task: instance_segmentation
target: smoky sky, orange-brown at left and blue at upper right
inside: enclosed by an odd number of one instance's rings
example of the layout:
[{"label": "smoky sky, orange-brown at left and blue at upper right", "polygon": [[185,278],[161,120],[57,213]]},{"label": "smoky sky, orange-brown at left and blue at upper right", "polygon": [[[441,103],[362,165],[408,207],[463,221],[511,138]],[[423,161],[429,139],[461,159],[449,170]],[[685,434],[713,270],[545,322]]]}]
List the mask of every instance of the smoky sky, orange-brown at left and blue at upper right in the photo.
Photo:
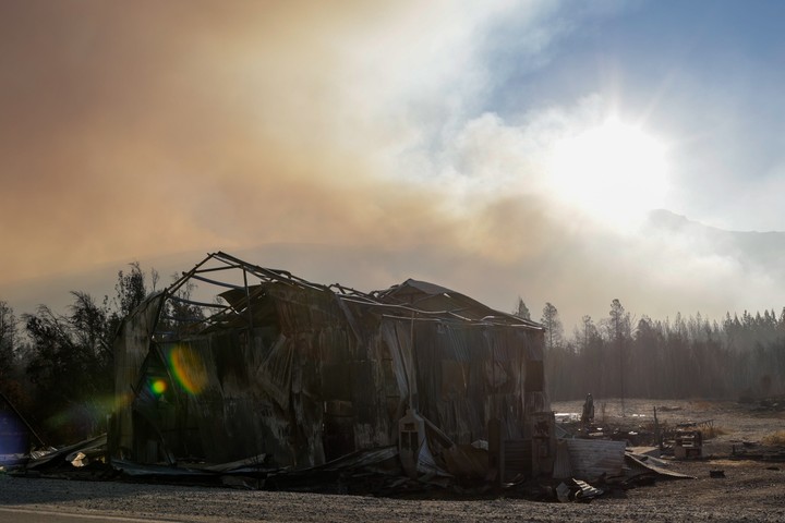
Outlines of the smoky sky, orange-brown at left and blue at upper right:
[{"label": "smoky sky, orange-brown at left and blue at upper right", "polygon": [[[567,330],[782,308],[652,223],[782,231],[785,3],[0,2],[0,300],[226,251]],[[75,287],[81,285],[81,287]]]}]

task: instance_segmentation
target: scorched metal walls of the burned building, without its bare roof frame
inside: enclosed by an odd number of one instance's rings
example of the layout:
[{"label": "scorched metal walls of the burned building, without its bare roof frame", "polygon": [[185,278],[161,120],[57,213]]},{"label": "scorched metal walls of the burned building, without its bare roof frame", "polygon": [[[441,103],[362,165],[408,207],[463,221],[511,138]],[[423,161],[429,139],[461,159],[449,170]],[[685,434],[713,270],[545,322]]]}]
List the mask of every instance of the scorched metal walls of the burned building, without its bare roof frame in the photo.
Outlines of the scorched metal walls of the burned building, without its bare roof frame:
[{"label": "scorched metal walls of the burned building, without its bare roof frame", "polygon": [[[319,289],[266,284],[237,321],[156,340],[155,300],[117,340],[114,453],[142,463],[228,462],[266,454],[307,467],[397,442],[409,405],[458,443],[487,437],[491,417],[523,437],[540,410],[542,331],[404,317]],[[243,320],[240,320],[243,318]]]}]

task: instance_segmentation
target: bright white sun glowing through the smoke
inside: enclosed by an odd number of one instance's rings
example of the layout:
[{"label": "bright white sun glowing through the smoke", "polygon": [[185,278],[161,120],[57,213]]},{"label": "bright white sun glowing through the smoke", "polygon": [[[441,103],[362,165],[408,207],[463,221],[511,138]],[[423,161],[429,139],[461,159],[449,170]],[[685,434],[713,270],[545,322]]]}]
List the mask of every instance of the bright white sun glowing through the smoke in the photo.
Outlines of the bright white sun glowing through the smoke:
[{"label": "bright white sun glowing through the smoke", "polygon": [[631,220],[663,206],[667,150],[639,125],[612,117],[553,147],[557,199],[603,221]]}]

